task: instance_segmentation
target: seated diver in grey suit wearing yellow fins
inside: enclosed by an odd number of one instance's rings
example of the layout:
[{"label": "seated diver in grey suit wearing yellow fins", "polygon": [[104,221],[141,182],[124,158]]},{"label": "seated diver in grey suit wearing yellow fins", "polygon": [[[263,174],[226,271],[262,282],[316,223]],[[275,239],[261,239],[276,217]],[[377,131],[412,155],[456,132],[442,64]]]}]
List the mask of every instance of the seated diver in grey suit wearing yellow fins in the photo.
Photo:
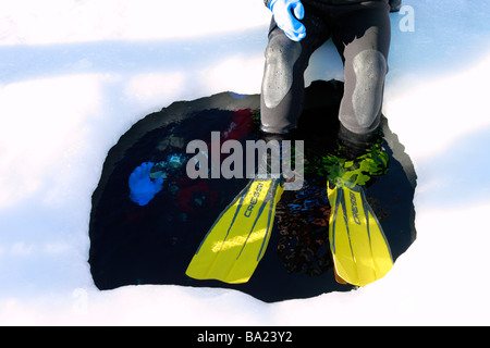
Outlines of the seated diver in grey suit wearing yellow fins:
[{"label": "seated diver in grey suit wearing yellow fins", "polygon": [[[351,157],[358,157],[380,125],[391,41],[389,14],[400,10],[401,0],[265,0],[265,4],[273,16],[261,86],[262,138],[280,144],[294,137],[303,113],[304,73],[311,54],[332,38],[345,78],[339,140],[343,148],[353,148],[347,151]],[[271,157],[281,157],[282,151],[277,146]],[[391,251],[363,188],[348,181],[363,176],[338,172],[342,175],[327,185],[335,279],[364,286],[391,270]],[[257,176],[249,182],[211,226],[187,268],[188,276],[248,282],[269,243],[287,181],[281,176]]]}]

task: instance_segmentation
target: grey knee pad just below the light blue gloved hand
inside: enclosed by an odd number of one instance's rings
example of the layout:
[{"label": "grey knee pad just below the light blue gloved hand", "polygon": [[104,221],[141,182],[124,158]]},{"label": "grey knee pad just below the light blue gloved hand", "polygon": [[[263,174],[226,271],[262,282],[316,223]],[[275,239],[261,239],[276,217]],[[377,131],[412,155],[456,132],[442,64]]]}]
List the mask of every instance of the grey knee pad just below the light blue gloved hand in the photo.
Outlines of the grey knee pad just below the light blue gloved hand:
[{"label": "grey knee pad just below the light blue gloved hand", "polygon": [[273,109],[284,99],[293,86],[294,64],[302,53],[302,45],[286,36],[274,36],[266,49],[266,69],[262,80],[262,98],[266,107]]}]

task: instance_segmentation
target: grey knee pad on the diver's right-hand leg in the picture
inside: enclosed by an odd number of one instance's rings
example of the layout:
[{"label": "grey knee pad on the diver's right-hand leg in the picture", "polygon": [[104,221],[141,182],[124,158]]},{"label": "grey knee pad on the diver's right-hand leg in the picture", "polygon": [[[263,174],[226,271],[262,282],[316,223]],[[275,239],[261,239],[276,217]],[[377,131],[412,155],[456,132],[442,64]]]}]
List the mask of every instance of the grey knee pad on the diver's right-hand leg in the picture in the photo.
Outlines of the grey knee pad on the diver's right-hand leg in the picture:
[{"label": "grey knee pad on the diver's right-hand leg in the picture", "polygon": [[[365,50],[353,60],[356,77],[352,105],[360,133],[370,132],[378,126],[381,112],[384,77],[388,63],[384,55],[377,50]],[[375,124],[376,123],[376,124]]]}]

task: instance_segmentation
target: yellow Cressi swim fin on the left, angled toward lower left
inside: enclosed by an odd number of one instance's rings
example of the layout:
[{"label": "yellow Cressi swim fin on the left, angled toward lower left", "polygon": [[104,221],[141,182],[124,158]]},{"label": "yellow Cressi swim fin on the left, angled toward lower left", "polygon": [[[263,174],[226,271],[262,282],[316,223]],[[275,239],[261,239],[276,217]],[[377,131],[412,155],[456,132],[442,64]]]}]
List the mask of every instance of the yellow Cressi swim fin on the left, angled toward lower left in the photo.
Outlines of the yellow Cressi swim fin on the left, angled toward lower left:
[{"label": "yellow Cressi swim fin on the left, angled toward lower left", "polygon": [[185,272],[196,279],[246,283],[266,252],[284,191],[280,179],[253,179],[215,222]]}]

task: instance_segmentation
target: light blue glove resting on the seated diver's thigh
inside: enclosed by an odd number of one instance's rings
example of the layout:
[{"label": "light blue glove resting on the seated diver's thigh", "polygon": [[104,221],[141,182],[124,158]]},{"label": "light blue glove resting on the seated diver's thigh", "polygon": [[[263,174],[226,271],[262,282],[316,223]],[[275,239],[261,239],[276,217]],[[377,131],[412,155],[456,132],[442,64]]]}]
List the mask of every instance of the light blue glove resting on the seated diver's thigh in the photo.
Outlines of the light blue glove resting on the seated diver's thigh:
[{"label": "light blue glove resting on the seated diver's thigh", "polygon": [[269,9],[274,21],[293,41],[301,41],[306,36],[306,27],[298,20],[305,16],[305,8],[299,0],[271,0]]}]

